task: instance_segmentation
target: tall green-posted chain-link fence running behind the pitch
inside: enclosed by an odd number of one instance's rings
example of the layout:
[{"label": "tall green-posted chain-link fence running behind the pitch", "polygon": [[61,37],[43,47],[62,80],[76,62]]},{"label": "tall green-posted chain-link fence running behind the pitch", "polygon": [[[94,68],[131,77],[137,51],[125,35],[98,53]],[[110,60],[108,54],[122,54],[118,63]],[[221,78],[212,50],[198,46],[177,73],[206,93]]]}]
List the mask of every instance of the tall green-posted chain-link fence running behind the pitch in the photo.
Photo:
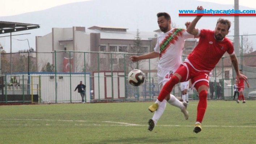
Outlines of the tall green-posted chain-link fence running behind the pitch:
[{"label": "tall green-posted chain-link fence running behind the pitch", "polygon": [[[239,68],[248,77],[250,85],[244,89],[247,99],[256,97],[254,38],[255,35],[240,36],[242,45],[237,56]],[[87,102],[156,99],[160,92],[157,80],[158,58],[132,62],[129,57],[139,54],[128,53],[127,47],[110,46],[108,49],[110,52],[20,51],[12,53],[12,56],[2,51],[0,102],[80,102],[80,94],[74,92],[80,81],[86,85]],[[184,48],[183,53],[189,52],[191,49]],[[182,59],[185,60],[186,57],[184,55]],[[140,69],[145,73],[145,82],[141,86],[134,87],[127,81],[127,75],[133,69]],[[14,75],[20,83],[18,86],[10,83]],[[229,55],[225,54],[212,71],[210,84],[214,92],[209,89],[208,99],[232,99],[234,82],[235,71]],[[172,94],[182,96],[179,84]],[[189,89],[188,94],[189,99],[198,99],[195,90]]]}]

